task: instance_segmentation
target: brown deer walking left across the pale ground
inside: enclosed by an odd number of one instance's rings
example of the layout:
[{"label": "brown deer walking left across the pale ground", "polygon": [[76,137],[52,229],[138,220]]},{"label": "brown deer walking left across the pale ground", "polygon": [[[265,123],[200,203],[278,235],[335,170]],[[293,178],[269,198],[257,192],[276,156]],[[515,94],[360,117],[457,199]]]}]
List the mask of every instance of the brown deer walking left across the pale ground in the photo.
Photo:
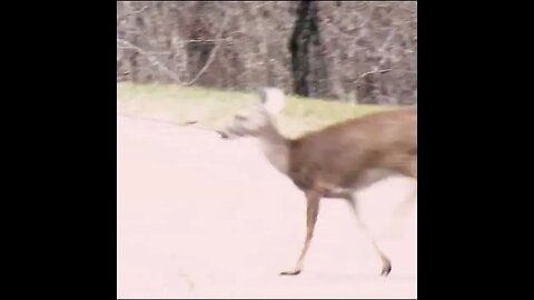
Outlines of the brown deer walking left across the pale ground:
[{"label": "brown deer walking left across the pale ground", "polygon": [[285,107],[284,92],[278,88],[260,88],[258,93],[259,104],[238,112],[229,126],[217,132],[226,140],[255,138],[270,164],[304,192],[304,247],[296,267],[279,274],[297,276],[303,271],[314,237],[319,201],[340,198],[346,200],[359,228],[380,258],[380,276],[387,277],[392,262],[362,222],[355,193],[379,180],[402,176],[413,179],[415,184],[397,211],[406,211],[405,208],[414,203],[417,191],[417,108],[402,107],[368,113],[299,138],[286,138],[275,122]]}]

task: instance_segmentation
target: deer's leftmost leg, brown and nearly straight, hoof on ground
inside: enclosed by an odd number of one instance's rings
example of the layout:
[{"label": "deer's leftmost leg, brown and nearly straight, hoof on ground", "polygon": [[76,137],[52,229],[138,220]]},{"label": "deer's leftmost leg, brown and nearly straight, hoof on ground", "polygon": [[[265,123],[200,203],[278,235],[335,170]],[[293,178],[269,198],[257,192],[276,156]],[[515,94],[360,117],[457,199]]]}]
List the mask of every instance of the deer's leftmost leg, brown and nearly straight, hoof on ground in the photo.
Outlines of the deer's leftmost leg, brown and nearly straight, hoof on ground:
[{"label": "deer's leftmost leg, brown and nearly straight, hoof on ground", "polygon": [[291,271],[285,271],[280,274],[283,276],[296,276],[303,271],[304,258],[306,252],[308,252],[312,238],[314,237],[315,223],[317,222],[317,214],[319,212],[319,200],[320,196],[314,191],[307,191],[306,193],[306,240],[304,241],[303,250],[297,261],[297,266]]}]

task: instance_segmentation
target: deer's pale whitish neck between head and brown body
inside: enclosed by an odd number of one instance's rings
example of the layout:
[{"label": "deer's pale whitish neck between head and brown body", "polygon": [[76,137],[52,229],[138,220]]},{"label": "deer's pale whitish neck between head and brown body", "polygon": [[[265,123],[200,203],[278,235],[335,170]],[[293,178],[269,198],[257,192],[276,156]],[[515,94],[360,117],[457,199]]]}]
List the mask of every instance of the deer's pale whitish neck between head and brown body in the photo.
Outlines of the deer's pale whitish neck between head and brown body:
[{"label": "deer's pale whitish neck between head and brown body", "polygon": [[258,137],[259,147],[267,160],[279,172],[287,174],[289,168],[289,140],[280,134],[273,122]]}]

